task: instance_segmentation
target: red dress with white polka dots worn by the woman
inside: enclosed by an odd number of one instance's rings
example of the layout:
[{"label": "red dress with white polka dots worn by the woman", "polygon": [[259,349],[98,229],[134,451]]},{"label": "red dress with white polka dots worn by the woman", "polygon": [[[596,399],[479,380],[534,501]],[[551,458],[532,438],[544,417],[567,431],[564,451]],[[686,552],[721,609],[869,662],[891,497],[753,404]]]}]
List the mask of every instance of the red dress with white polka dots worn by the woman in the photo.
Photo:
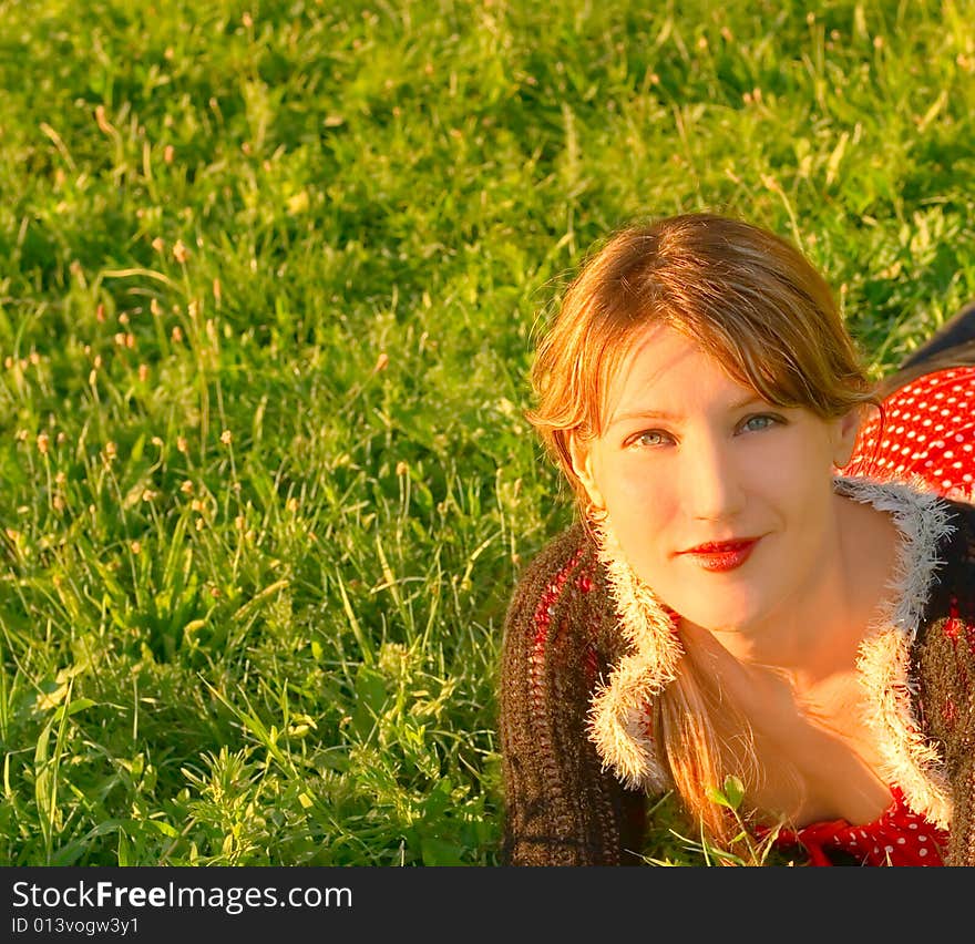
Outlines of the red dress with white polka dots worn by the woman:
[{"label": "red dress with white polka dots worn by the woman", "polygon": [[[975,367],[924,374],[894,391],[860,431],[843,475],[901,480],[971,502],[975,482]],[[874,822],[832,820],[779,833],[802,846],[810,865],[943,865],[947,832],[907,807],[897,786]]]}]

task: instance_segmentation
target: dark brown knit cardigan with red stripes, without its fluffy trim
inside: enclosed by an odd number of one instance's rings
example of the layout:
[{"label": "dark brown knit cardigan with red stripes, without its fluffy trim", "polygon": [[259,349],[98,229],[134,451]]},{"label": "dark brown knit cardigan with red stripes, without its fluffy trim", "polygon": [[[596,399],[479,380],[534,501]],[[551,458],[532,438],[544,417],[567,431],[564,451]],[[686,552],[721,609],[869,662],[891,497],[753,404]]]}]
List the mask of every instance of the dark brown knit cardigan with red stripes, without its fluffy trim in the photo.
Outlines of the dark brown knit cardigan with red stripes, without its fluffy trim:
[{"label": "dark brown knit cardigan with red stripes, without its fluffy trim", "polygon": [[[890,725],[892,741],[903,739],[891,746],[892,769],[894,779],[903,771],[911,806],[942,798],[946,864],[975,865],[975,509],[937,501],[947,527],[925,537],[918,519],[921,536],[910,544],[911,554],[936,563],[925,571],[918,560],[914,576],[927,576],[909,587],[920,593],[921,618],[905,635],[909,694],[900,699],[904,716]],[[644,861],[647,796],[606,769],[587,727],[594,690],[612,677],[627,645],[605,567],[576,525],[526,568],[505,623],[500,702],[509,864]],[[894,704],[896,695],[882,691],[879,701]],[[934,749],[933,763],[912,759],[916,742]]]}]

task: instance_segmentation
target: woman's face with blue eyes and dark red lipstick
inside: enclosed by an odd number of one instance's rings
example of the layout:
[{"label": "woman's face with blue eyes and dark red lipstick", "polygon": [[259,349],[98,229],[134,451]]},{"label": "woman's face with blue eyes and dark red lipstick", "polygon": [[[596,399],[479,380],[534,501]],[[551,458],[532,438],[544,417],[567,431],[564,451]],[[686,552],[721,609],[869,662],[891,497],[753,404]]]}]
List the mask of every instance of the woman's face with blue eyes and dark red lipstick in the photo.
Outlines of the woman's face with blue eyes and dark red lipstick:
[{"label": "woman's face with blue eyes and dark red lipstick", "polygon": [[598,437],[572,441],[575,470],[665,604],[718,629],[801,603],[835,547],[831,481],[853,414],[772,407],[658,325],[616,371],[603,419]]}]

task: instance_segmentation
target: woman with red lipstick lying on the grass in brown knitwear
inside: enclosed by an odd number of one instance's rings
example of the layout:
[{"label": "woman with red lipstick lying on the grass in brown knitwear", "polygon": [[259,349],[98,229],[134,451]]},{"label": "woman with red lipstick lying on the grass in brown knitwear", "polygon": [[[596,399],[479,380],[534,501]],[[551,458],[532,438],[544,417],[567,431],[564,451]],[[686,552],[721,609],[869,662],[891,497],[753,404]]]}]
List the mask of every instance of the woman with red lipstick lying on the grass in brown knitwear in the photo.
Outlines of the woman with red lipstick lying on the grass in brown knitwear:
[{"label": "woman with red lipstick lying on the grass in brown knitwear", "polygon": [[582,521],[521,577],[501,690],[512,864],[639,864],[714,788],[812,864],[975,864],[975,310],[882,390],[802,254],[692,214],[618,233],[530,419]]}]

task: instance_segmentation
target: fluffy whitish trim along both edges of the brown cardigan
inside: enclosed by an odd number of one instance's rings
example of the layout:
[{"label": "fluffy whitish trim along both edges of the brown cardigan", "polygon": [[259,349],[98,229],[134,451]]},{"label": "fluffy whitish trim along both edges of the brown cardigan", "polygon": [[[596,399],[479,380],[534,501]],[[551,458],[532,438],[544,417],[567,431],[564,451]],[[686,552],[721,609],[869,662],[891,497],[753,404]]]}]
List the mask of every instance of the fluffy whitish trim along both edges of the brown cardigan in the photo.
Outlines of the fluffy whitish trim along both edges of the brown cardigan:
[{"label": "fluffy whitish trim along both edges of the brown cardigan", "polygon": [[[953,530],[948,512],[920,479],[837,476],[833,488],[838,494],[889,512],[901,532],[889,584],[891,603],[861,644],[856,668],[866,721],[882,746],[883,769],[878,772],[891,786],[901,787],[911,809],[947,828],[952,814],[947,778],[914,714],[910,650],[935,579],[938,544]],[[655,751],[650,705],[676,677],[682,648],[673,612],[636,577],[612,531],[599,529],[596,537],[630,651],[593,697],[589,737],[604,766],[613,768],[627,787],[658,792],[668,784]]]}]

